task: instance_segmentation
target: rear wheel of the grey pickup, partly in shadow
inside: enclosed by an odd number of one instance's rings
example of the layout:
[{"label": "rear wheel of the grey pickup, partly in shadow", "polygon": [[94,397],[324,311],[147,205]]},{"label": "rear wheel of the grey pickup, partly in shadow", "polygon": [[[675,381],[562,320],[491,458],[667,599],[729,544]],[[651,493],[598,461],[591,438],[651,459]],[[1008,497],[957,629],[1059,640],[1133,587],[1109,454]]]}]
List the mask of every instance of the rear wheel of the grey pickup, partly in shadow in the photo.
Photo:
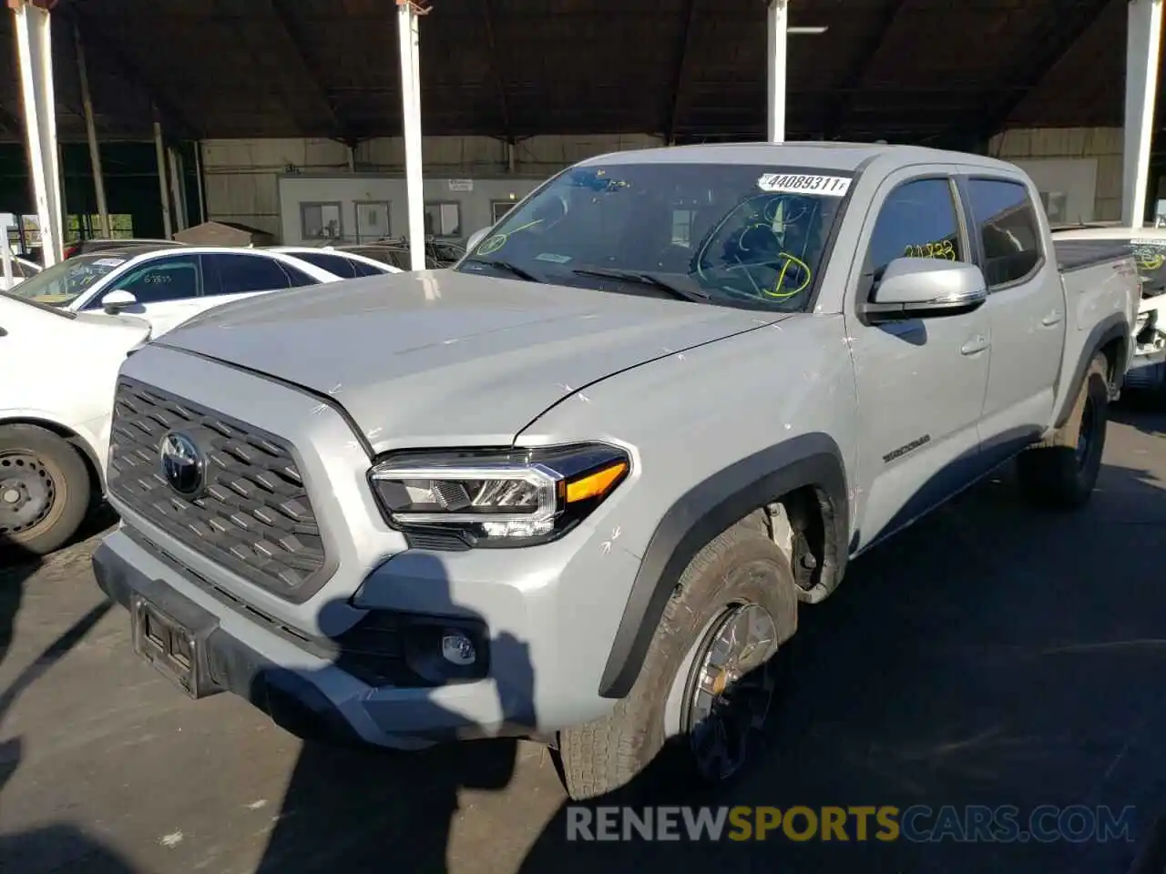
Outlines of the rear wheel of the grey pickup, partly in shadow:
[{"label": "rear wheel of the grey pickup, partly in shadow", "polygon": [[1089,501],[1101,472],[1109,422],[1109,381],[1104,355],[1086,372],[1068,421],[1017,458],[1024,496],[1037,507],[1075,510]]}]

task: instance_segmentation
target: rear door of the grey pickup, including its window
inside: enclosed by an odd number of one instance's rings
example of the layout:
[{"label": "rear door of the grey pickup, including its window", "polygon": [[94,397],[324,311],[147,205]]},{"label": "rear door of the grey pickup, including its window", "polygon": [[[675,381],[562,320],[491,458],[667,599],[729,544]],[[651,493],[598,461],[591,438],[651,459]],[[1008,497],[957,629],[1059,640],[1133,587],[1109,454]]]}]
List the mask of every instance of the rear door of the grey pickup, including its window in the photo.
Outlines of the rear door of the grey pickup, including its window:
[{"label": "rear door of the grey pickup, including its window", "polygon": [[1065,292],[1045,252],[1035,197],[1020,176],[960,179],[976,260],[988,281],[984,304],[992,364],[981,439],[985,461],[1004,460],[1053,417],[1065,348]]}]

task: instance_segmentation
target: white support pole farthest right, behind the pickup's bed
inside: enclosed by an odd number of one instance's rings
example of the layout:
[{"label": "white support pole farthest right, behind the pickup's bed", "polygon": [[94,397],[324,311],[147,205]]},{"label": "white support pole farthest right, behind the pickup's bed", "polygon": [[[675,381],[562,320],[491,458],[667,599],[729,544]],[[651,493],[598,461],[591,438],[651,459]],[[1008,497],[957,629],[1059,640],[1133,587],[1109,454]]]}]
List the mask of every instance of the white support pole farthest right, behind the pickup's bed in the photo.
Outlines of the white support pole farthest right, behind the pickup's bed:
[{"label": "white support pole farthest right, behind the pickup's bed", "polygon": [[1163,0],[1130,0],[1125,36],[1125,160],[1122,164],[1122,224],[1142,227],[1146,214],[1150,143],[1154,131]]}]

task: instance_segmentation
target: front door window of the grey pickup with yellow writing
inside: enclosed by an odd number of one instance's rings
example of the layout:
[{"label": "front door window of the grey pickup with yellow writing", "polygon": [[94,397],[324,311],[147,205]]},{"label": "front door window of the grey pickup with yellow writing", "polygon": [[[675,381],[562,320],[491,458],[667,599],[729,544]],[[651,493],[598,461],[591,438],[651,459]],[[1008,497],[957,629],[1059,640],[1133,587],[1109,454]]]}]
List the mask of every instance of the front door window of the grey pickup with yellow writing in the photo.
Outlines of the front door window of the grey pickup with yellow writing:
[{"label": "front door window of the grey pickup with yellow writing", "polygon": [[866,269],[877,280],[897,258],[967,260],[948,179],[906,182],[883,202],[871,234]]}]

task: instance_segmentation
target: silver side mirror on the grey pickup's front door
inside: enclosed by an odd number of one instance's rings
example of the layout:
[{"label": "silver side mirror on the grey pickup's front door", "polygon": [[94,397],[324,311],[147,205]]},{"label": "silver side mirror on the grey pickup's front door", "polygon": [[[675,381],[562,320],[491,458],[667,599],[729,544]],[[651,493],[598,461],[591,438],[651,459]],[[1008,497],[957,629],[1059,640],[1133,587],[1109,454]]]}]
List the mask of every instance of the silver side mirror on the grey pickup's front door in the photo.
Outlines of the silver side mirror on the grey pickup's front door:
[{"label": "silver side mirror on the grey pickup's front door", "polygon": [[970,312],[988,299],[975,265],[934,258],[897,258],[886,266],[863,312],[872,318],[934,318]]}]

